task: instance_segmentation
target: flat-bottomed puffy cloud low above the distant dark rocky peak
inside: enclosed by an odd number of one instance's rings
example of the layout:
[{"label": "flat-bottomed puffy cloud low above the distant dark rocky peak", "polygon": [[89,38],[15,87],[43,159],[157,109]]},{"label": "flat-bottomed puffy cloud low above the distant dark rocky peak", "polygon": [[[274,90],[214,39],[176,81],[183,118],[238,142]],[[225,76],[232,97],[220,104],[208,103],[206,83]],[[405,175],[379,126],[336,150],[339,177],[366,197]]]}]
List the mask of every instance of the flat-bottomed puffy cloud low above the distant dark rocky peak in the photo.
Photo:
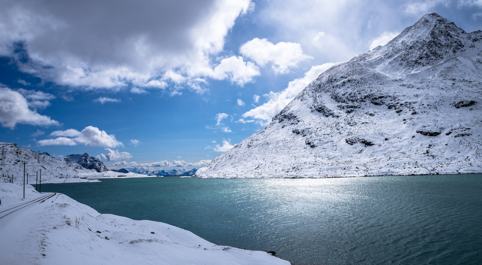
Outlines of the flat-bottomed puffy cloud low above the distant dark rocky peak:
[{"label": "flat-bottomed puffy cloud low above the distant dark rocky peak", "polygon": [[99,130],[94,126],[87,126],[82,131],[76,129],[67,129],[65,131],[54,131],[51,136],[67,136],[74,138],[59,137],[55,139],[45,139],[37,141],[40,146],[47,145],[77,145],[83,144],[86,146],[102,146],[102,147],[117,147],[123,146],[122,142],[116,140],[114,135],[108,135],[106,131]]}]

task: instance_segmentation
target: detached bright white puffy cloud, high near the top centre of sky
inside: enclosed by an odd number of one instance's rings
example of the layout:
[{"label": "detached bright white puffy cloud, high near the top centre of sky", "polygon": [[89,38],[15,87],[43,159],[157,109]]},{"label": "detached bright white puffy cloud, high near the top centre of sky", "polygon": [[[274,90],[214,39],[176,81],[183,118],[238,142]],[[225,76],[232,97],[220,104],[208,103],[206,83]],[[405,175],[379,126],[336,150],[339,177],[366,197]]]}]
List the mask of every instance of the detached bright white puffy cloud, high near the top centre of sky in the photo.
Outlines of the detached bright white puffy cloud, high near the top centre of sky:
[{"label": "detached bright white puffy cloud, high near the top centre of sky", "polygon": [[299,43],[281,41],[273,44],[266,38],[247,41],[241,45],[240,52],[261,66],[273,63],[271,67],[277,74],[289,73],[290,67],[296,67],[298,63],[313,58],[303,53]]}]

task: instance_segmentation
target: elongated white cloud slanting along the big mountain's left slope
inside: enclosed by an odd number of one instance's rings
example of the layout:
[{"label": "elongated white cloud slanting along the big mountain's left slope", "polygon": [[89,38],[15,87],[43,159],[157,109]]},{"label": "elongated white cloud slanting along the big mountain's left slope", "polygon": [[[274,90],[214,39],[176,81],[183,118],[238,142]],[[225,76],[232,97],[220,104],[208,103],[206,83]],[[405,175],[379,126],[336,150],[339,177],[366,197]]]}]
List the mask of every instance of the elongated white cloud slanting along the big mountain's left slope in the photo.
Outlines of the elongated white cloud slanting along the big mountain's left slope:
[{"label": "elongated white cloud slanting along the big mountain's left slope", "polygon": [[[257,119],[262,126],[268,125],[271,118],[280,112],[290,101],[292,101],[296,95],[298,95],[303,88],[308,86],[308,84],[313,81],[316,77],[321,75],[326,69],[333,66],[335,63],[323,63],[321,65],[312,66],[311,69],[305,73],[304,77],[297,78],[288,83],[288,87],[283,91],[275,93],[269,91],[269,94],[264,96],[268,97],[268,102],[263,105],[256,107],[245,114],[242,114],[244,118],[253,117]],[[242,123],[250,122],[239,120]]]}]

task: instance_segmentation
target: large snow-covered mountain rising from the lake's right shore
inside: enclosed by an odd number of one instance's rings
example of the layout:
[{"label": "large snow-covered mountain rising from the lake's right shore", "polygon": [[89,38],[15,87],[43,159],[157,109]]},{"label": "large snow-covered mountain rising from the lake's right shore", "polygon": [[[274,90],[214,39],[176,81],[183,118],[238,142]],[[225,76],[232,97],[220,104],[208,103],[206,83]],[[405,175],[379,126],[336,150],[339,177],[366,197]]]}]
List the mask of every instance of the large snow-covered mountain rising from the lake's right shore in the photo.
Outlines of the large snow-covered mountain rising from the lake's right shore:
[{"label": "large snow-covered mountain rising from the lake's right shore", "polygon": [[436,13],[338,63],[199,177],[481,173],[482,31]]}]

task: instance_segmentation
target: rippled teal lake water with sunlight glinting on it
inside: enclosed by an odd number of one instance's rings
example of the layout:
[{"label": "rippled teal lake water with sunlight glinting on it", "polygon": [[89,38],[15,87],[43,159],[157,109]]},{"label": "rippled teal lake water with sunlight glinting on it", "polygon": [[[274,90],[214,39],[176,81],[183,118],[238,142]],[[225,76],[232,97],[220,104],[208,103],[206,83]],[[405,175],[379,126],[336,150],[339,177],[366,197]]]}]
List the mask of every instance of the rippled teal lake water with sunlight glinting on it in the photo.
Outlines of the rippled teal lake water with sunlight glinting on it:
[{"label": "rippled teal lake water with sunlight glinting on it", "polygon": [[295,265],[482,264],[482,174],[148,177],[42,184],[103,214],[159,221]]}]

